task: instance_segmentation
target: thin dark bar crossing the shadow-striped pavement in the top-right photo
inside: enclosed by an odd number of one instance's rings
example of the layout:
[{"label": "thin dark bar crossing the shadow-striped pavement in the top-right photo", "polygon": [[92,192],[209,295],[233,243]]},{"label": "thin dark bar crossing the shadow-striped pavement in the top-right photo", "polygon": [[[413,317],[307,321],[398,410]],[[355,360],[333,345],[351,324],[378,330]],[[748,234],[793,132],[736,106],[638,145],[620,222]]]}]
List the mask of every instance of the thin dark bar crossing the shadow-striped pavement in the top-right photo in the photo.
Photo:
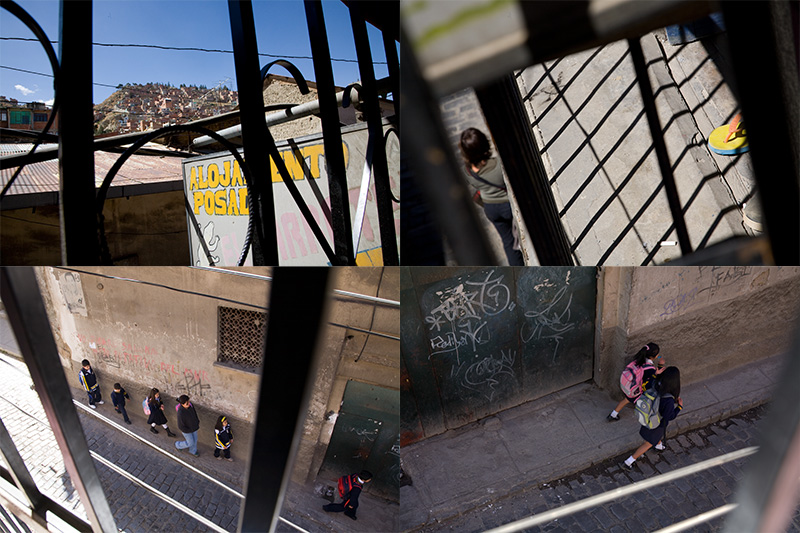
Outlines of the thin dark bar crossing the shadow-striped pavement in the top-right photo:
[{"label": "thin dark bar crossing the shadow-striped pavement in the top-right photo", "polygon": [[675,223],[675,232],[678,234],[678,243],[681,246],[681,253],[688,255],[692,253],[692,243],[689,240],[689,231],[686,229],[686,220],[683,218],[681,199],[678,196],[678,187],[675,185],[675,176],[672,174],[672,165],[667,155],[667,146],[664,144],[664,135],[661,133],[661,122],[658,120],[656,99],[653,96],[653,88],[650,86],[650,77],[647,75],[647,65],[644,61],[642,45],[639,39],[635,38],[628,39],[628,47],[631,50],[631,59],[636,70],[636,81],[639,84],[639,91],[644,102],[647,124],[650,126],[650,137],[653,139],[653,148],[655,148],[656,157],[658,157],[661,179],[664,181],[664,190],[667,192],[669,210]]}]

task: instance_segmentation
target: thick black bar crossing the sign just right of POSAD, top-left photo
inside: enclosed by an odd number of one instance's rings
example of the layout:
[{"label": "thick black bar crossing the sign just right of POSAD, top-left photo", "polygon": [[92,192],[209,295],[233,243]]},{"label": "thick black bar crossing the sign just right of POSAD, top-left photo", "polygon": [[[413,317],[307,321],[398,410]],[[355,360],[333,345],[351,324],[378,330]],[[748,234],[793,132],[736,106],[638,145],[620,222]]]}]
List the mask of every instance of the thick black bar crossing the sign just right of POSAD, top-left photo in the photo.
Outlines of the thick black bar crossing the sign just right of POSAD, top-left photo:
[{"label": "thick black bar crossing the sign just right of POSAD, top-left photo", "polygon": [[[253,174],[250,209],[255,209],[259,227],[253,240],[254,265],[278,265],[278,235],[272,171],[266,147],[275,144],[264,120],[264,83],[258,60],[258,42],[250,0],[228,0],[233,39],[233,62],[239,89],[244,158]],[[263,239],[263,241],[262,241]]]}]

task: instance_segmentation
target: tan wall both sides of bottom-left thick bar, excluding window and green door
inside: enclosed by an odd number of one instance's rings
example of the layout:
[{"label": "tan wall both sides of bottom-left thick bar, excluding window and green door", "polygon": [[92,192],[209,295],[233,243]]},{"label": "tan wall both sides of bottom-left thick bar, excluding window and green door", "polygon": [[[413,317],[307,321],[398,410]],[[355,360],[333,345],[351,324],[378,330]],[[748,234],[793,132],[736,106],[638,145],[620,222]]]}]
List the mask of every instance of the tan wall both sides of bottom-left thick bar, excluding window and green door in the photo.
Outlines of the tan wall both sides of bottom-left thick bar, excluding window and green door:
[{"label": "tan wall both sides of bottom-left thick bar, excluding window and green door", "polygon": [[[37,269],[71,386],[78,387],[80,361],[86,358],[97,371],[105,395],[115,381],[139,402],[146,389],[157,387],[170,401],[186,393],[199,408],[227,413],[241,421],[237,427],[254,420],[260,376],[216,363],[218,306],[266,307],[270,283],[185,267],[79,270],[83,273]],[[251,267],[246,271],[269,275],[271,269]],[[399,300],[399,273],[398,269],[334,268],[331,287]],[[302,320],[301,306],[297,312]],[[350,329],[399,337],[399,316],[396,306],[331,298],[329,324],[319,339],[310,403],[297,449],[295,481],[308,482],[319,472],[348,380],[399,391],[399,342]],[[280,376],[265,376],[265,386],[272,380],[280,380]]]}]

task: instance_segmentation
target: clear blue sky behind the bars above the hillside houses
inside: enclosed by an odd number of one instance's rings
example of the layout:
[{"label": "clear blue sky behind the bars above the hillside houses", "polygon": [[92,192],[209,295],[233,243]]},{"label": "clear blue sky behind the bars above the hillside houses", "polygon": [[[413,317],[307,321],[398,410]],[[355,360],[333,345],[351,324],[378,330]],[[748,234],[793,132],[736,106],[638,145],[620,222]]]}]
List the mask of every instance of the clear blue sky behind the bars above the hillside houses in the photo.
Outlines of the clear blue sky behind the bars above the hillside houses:
[{"label": "clear blue sky behind the bars above the hillside houses", "polygon": [[[56,0],[17,0],[42,26],[51,41],[59,39],[59,2]],[[325,25],[331,56],[356,58],[355,44],[347,7],[338,0],[323,2]],[[297,0],[254,1],[253,11],[259,52],[284,56],[311,56],[303,2]],[[96,43],[152,44],[232,50],[230,19],[225,0],[129,1],[95,0],[93,36]],[[375,62],[385,62],[380,32],[367,24],[370,48]],[[26,37],[33,34],[6,10],[0,9],[0,37]],[[58,54],[58,45],[53,44]],[[274,58],[261,57],[264,65]],[[290,59],[308,80],[315,80],[310,59]],[[0,40],[0,66],[51,74],[52,70],[38,42]],[[233,54],[173,51],[142,48],[93,47],[94,102],[99,104],[122,83],[161,82],[178,86],[220,82],[236,90]],[[380,79],[388,74],[386,65],[375,66]],[[280,67],[271,73],[289,75]],[[345,86],[360,78],[358,65],[333,62],[335,83]],[[0,95],[21,102],[53,98],[53,81],[39,76],[0,68]]]}]

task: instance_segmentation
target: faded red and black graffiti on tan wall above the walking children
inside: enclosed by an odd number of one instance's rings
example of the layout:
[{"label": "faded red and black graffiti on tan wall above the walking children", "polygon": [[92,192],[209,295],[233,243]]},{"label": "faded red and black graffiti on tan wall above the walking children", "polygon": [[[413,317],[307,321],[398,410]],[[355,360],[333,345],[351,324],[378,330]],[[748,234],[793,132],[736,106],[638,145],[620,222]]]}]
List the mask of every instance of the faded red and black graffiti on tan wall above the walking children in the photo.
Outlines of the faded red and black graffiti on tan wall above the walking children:
[{"label": "faded red and black graffiti on tan wall above the walking children", "polygon": [[113,341],[82,333],[77,333],[76,337],[86,350],[87,359],[102,361],[109,368],[145,374],[156,383],[179,387],[190,396],[203,396],[211,390],[205,370],[182,366],[180,361],[171,362],[146,344]]}]

